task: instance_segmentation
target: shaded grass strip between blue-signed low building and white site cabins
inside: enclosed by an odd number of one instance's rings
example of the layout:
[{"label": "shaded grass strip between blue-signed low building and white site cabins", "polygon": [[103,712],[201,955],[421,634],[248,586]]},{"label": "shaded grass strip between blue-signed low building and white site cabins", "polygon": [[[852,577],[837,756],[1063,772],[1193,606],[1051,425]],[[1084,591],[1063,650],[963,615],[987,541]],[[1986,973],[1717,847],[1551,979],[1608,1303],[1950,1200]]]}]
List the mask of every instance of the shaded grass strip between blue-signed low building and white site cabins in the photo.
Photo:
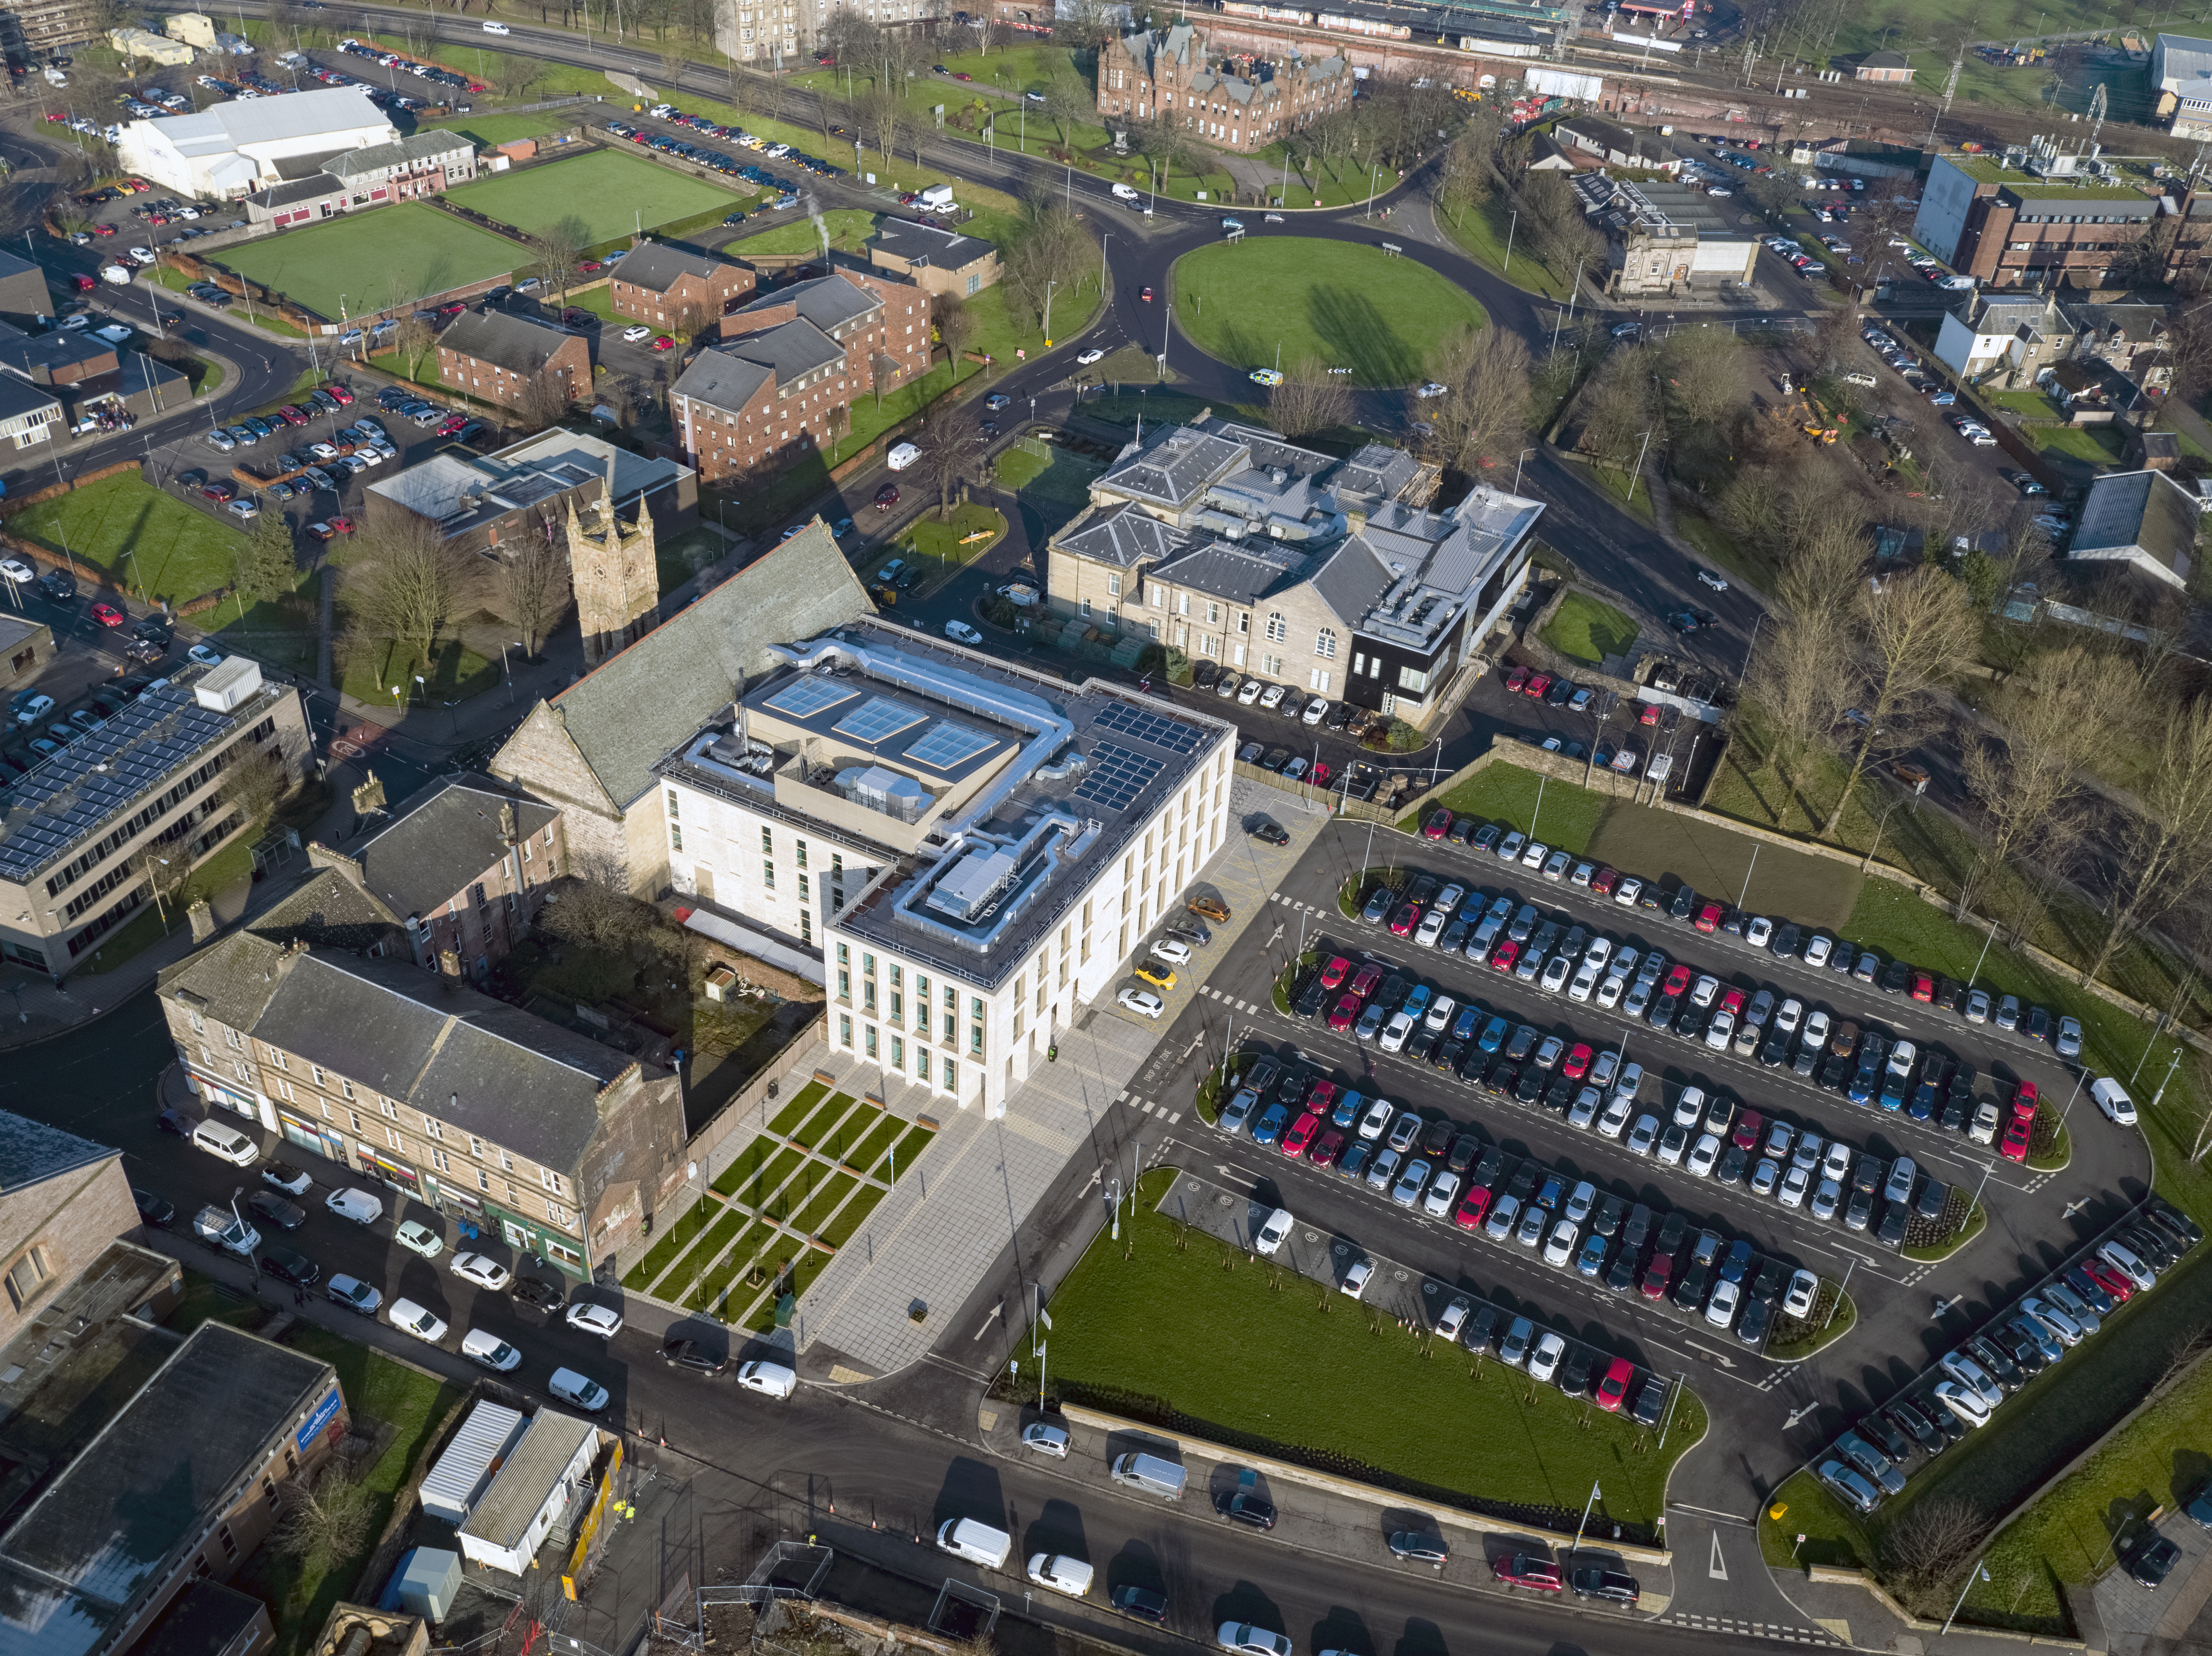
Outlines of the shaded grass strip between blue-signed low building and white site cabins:
[{"label": "shaded grass strip between blue-signed low building and white site cabins", "polygon": [[299,1559],[263,1545],[232,1581],[241,1592],[268,1603],[276,1623],[276,1649],[303,1652],[314,1643],[314,1629],[330,1616],[330,1607],[352,1592],[369,1550],[392,1519],[392,1508],[416,1457],[429,1448],[431,1433],[467,1393],[462,1386],[438,1382],[420,1369],[392,1362],[383,1353],[323,1329],[296,1324],[288,1342],[338,1371],[345,1404],[356,1417],[394,1426],[385,1453],[361,1475],[361,1486],[369,1495],[369,1521],[354,1557],[336,1559],[321,1574],[310,1574]]}]

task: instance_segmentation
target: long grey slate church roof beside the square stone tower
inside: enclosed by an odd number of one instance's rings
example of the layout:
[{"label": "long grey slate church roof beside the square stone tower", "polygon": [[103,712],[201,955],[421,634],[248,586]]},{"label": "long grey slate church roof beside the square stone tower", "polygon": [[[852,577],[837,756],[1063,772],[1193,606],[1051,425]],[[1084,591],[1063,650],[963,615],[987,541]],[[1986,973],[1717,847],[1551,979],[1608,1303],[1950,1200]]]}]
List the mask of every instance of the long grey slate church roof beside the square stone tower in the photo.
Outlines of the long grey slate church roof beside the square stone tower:
[{"label": "long grey slate church roof beside the square stone tower", "polygon": [[546,703],[617,807],[653,787],[653,765],[730,705],[768,646],[874,615],[821,517],[770,548],[622,654]]}]

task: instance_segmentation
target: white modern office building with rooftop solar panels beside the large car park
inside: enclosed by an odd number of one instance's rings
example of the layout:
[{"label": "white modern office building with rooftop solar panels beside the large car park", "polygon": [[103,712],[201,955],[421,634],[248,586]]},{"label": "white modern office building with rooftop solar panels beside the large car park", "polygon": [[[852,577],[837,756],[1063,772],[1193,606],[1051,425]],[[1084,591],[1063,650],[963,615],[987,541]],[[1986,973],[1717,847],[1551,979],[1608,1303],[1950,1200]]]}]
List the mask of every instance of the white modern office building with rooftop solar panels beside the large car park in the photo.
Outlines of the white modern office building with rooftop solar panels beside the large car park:
[{"label": "white modern office building with rooftop solar panels beside the large car park", "polygon": [[686,902],[823,953],[830,1041],[1004,1114],[1228,838],[1237,732],[874,617],[655,765]]}]

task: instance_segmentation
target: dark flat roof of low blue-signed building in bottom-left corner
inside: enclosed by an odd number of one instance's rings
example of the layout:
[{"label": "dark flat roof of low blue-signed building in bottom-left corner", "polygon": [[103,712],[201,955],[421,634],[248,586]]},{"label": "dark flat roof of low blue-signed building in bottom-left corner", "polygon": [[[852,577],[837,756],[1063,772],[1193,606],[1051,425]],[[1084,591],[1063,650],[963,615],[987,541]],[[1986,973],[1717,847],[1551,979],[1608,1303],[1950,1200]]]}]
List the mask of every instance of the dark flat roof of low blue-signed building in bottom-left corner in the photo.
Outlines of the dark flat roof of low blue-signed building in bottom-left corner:
[{"label": "dark flat roof of low blue-signed building in bottom-left corner", "polygon": [[0,1649],[100,1645],[336,1384],[319,1358],[199,1324],[0,1541]]}]

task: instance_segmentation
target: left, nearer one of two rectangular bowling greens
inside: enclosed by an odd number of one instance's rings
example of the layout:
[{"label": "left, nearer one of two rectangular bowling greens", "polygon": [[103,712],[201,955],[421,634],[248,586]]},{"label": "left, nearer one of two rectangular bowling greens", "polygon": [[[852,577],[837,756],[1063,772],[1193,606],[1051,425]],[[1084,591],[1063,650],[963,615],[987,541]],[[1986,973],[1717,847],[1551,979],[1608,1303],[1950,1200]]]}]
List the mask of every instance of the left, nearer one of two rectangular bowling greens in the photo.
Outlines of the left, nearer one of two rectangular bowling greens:
[{"label": "left, nearer one of two rectangular bowling greens", "polygon": [[210,263],[327,321],[338,321],[341,310],[363,316],[411,307],[418,298],[504,276],[529,261],[529,252],[513,241],[425,201],[347,212],[210,254]]}]

